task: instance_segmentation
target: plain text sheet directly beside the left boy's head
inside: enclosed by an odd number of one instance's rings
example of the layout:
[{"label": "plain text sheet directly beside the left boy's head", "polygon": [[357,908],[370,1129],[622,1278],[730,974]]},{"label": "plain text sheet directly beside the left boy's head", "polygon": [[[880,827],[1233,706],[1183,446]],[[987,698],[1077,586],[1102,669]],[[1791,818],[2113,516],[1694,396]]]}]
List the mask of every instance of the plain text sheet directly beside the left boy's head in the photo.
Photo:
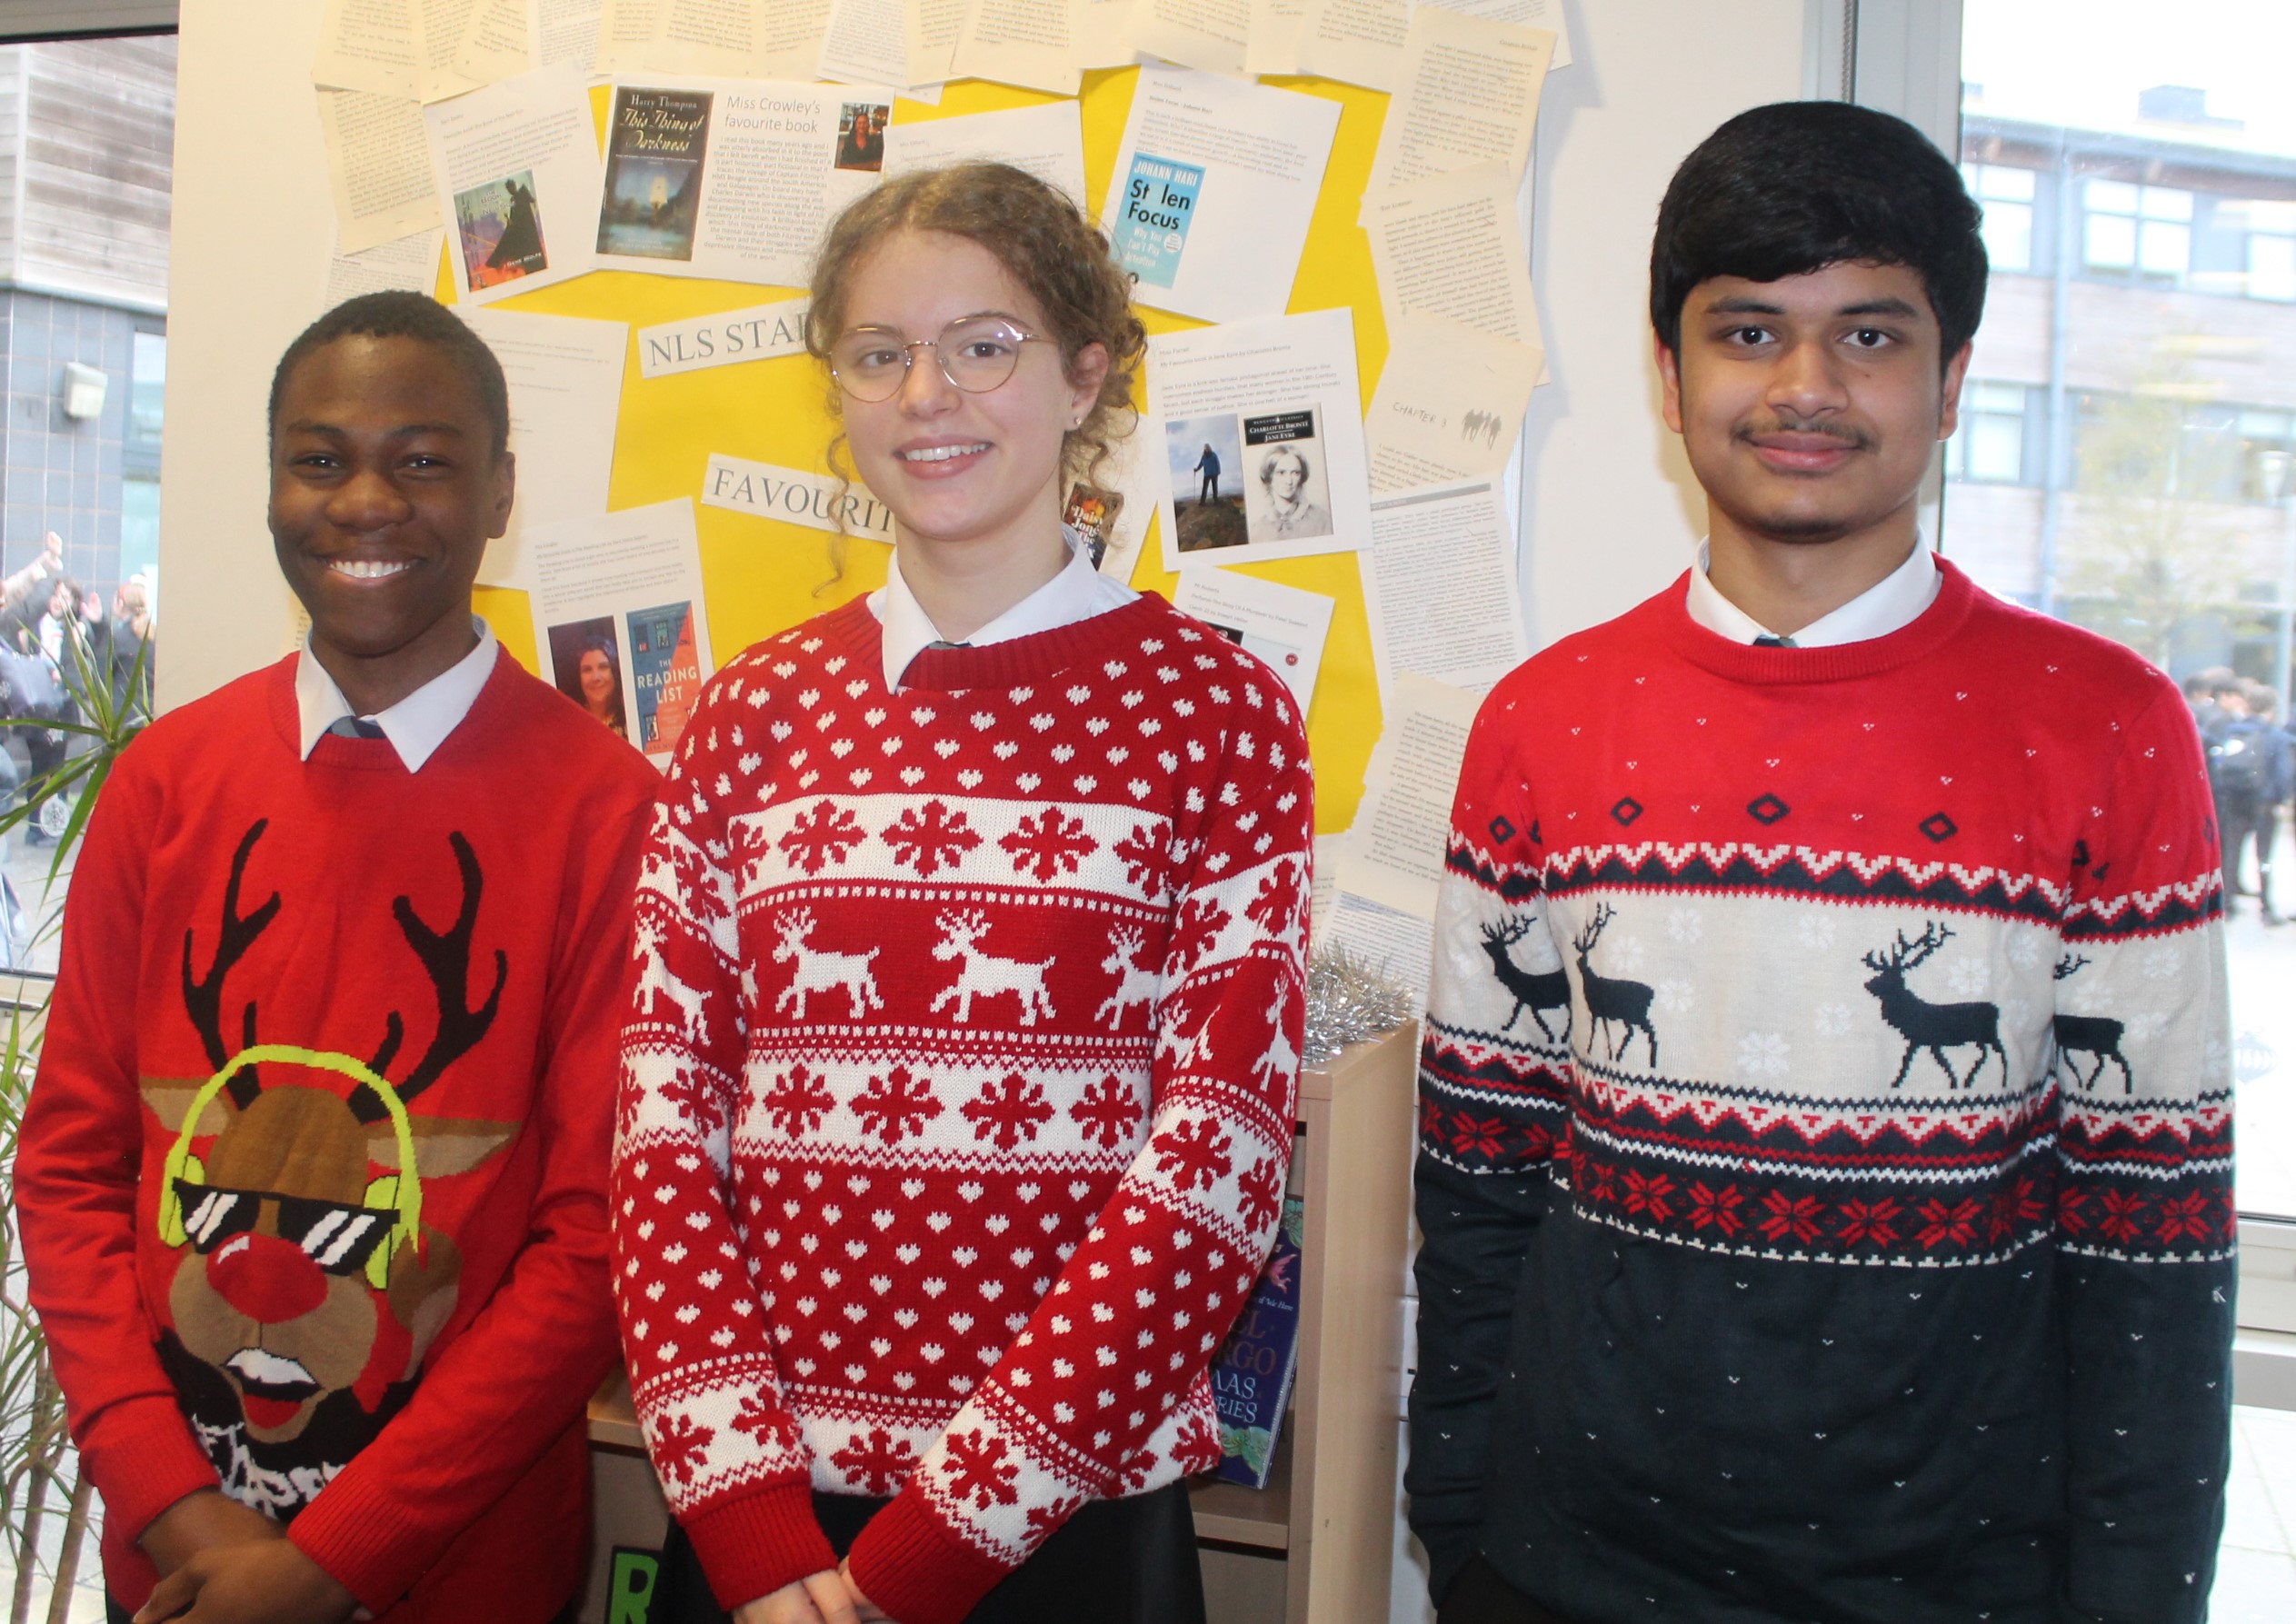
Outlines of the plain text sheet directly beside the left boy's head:
[{"label": "plain text sheet directly beside the left boy's head", "polygon": [[535,563],[526,538],[540,526],[606,512],[629,324],[535,310],[457,308],[457,315],[503,363],[510,455],[519,459],[510,533],[487,547],[478,579],[533,590]]}]

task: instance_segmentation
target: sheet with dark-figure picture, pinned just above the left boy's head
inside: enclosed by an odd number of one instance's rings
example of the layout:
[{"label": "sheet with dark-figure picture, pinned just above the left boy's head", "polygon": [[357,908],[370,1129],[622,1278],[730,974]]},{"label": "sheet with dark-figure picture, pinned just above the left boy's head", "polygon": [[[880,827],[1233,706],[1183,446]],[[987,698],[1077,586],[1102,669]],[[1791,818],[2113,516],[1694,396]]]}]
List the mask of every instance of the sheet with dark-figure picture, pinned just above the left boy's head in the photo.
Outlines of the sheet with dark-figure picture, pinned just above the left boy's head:
[{"label": "sheet with dark-figure picture, pinned just above the left boy's head", "polygon": [[597,136],[569,62],[425,108],[455,292],[471,303],[590,271]]}]

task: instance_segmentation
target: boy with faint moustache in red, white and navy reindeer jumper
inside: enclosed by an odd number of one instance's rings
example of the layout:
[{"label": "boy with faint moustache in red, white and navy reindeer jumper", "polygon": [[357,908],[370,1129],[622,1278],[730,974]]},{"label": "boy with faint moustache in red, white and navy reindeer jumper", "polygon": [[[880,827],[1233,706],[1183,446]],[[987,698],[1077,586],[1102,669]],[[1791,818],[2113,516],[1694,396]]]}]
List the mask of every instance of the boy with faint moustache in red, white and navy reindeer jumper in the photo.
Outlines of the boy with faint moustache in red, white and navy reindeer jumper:
[{"label": "boy with faint moustache in red, white and navy reindeer jumper", "polygon": [[1499,682],[1449,836],[1410,1461],[1444,1624],[2204,1617],[2209,783],[2163,673],[1917,531],[1977,218],[1841,103],[1731,119],[1660,207],[1706,549]]}]

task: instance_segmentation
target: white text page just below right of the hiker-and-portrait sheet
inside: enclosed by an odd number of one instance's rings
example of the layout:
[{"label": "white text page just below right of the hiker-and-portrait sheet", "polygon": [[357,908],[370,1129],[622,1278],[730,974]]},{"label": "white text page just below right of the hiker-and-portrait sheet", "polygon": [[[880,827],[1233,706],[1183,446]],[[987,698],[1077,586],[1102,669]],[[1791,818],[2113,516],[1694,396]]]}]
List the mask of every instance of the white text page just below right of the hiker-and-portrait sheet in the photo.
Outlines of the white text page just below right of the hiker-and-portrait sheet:
[{"label": "white text page just below right of the hiker-and-portrait sheet", "polygon": [[1382,703],[1407,678],[1481,694],[1529,659],[1515,551],[1497,480],[1371,503],[1359,565]]}]

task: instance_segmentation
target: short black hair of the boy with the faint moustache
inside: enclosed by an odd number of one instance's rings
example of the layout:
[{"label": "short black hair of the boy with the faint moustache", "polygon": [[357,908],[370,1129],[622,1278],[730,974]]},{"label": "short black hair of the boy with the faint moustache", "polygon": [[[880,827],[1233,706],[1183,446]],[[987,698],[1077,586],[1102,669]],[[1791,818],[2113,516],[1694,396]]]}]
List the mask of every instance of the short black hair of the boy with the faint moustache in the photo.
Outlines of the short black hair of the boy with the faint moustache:
[{"label": "short black hair of the boy with the faint moustache", "polygon": [[1651,326],[1683,347],[1683,301],[1715,276],[1775,283],[1830,264],[1901,264],[1922,278],[1942,358],[1986,310],[1981,214],[1922,131],[1848,101],[1740,113],[1683,158],[1658,204]]}]

